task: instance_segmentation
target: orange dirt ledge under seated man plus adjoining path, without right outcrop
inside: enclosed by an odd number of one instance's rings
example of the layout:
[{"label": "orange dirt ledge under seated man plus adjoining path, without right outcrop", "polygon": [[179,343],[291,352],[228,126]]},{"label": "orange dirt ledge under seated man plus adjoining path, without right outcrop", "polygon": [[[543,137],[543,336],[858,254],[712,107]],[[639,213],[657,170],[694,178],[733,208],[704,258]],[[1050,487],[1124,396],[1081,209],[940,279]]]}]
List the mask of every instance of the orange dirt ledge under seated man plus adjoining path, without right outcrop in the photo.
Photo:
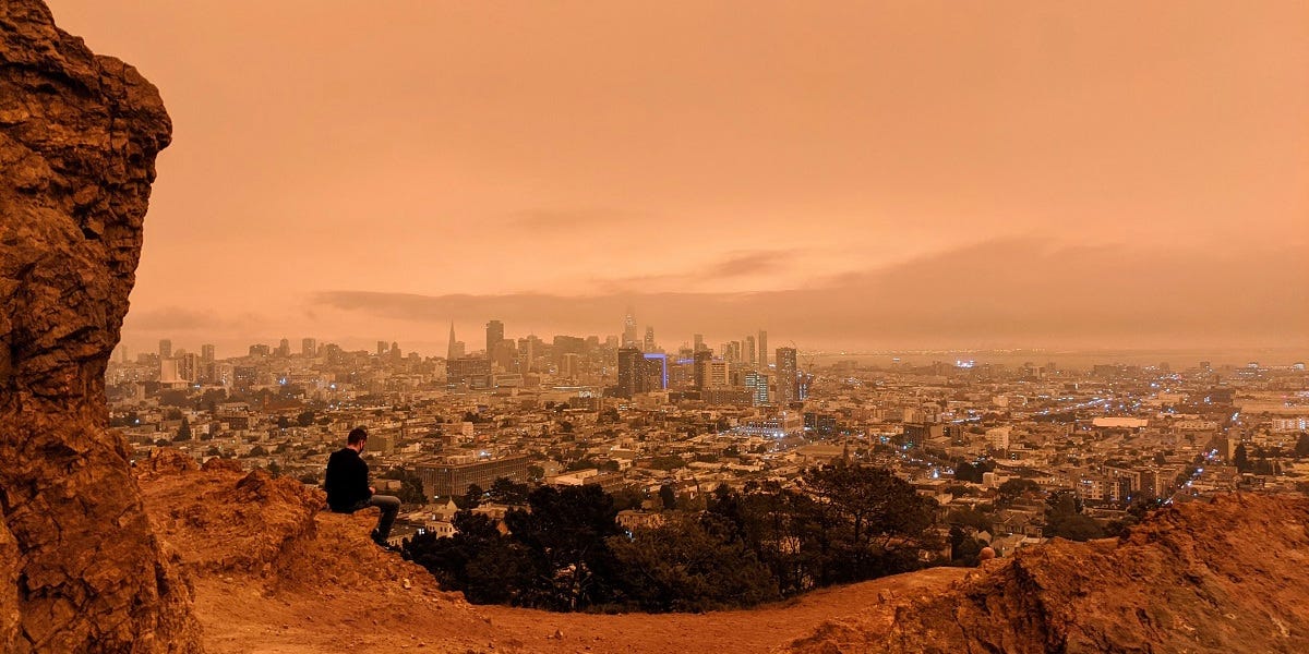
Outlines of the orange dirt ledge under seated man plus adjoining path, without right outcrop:
[{"label": "orange dirt ledge under seated man plus adjoining path, without right outcrop", "polygon": [[939,569],[831,589],[755,611],[704,615],[551,613],[471,606],[367,534],[376,511],[319,511],[289,479],[162,450],[140,467],[152,523],[194,579],[209,653],[770,651],[846,616],[888,621],[897,602],[936,593]]}]

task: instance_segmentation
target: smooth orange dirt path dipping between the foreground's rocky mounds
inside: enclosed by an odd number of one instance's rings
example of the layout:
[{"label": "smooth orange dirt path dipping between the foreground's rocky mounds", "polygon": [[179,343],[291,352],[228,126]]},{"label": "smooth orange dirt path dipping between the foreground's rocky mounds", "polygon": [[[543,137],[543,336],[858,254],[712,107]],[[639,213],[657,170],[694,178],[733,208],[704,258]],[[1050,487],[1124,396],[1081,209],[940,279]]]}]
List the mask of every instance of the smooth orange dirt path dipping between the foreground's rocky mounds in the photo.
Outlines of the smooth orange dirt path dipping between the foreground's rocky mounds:
[{"label": "smooth orange dirt path dipping between the foreground's rocky mounds", "polygon": [[890,607],[962,577],[933,569],[829,589],[754,611],[711,613],[551,613],[474,607],[458,595],[412,587],[270,596],[221,579],[196,586],[211,653],[737,653],[771,651],[833,620],[868,624]]}]

